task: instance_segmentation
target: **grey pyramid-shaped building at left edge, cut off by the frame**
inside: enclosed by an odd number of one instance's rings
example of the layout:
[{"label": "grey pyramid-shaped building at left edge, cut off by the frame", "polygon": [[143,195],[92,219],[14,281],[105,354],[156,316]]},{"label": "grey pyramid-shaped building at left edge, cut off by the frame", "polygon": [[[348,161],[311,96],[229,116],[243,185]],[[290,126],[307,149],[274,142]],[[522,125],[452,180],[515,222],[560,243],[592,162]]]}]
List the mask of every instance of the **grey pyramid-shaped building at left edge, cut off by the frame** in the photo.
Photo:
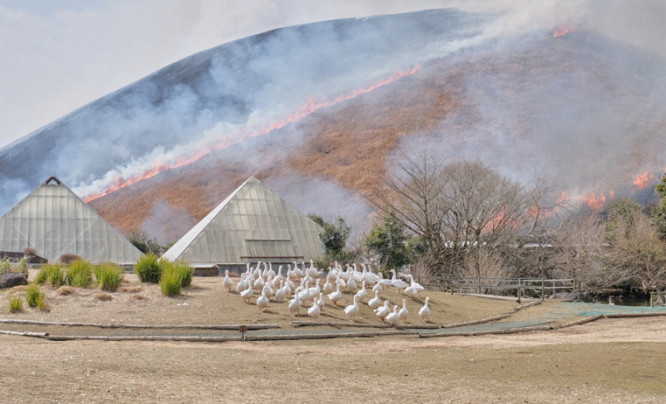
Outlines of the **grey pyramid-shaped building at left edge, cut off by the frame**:
[{"label": "grey pyramid-shaped building at left edge, cut off by the frame", "polygon": [[135,263],[143,254],[59,179],[51,177],[0,218],[0,251],[34,249],[50,262]]}]

